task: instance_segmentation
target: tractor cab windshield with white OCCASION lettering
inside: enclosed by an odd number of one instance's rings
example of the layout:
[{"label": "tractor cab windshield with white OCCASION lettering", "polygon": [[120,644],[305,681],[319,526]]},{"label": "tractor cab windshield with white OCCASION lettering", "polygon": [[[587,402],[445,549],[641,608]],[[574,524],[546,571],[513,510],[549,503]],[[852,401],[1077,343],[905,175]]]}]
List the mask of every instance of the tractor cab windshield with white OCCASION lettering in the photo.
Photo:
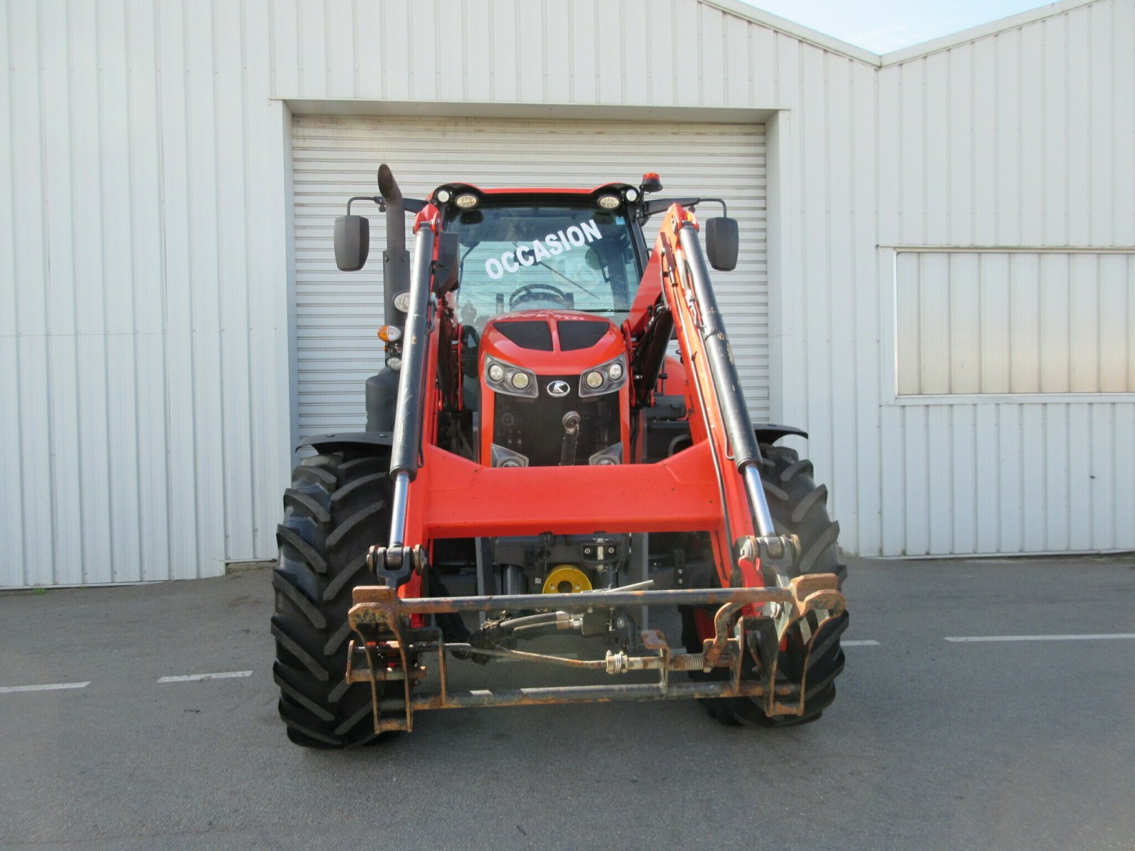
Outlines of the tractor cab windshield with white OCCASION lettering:
[{"label": "tractor cab windshield with white OCCASION lettering", "polygon": [[486,205],[448,230],[461,241],[456,309],[463,325],[514,310],[570,309],[607,315],[630,310],[639,271],[634,238],[619,212],[581,207]]}]

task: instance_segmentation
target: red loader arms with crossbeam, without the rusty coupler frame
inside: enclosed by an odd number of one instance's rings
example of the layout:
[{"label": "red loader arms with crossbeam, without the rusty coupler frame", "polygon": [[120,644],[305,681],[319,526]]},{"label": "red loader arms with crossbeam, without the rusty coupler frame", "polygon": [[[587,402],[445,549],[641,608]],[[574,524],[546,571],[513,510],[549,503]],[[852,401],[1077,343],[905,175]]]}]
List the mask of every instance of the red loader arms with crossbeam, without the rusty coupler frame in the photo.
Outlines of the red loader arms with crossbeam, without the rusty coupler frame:
[{"label": "red loader arms with crossbeam, without the rusty coupler frame", "polygon": [[[437,446],[440,405],[437,352],[442,322],[432,297],[431,275],[439,228],[436,208],[414,224],[411,303],[406,319],[403,370],[398,386],[390,475],[394,511],[389,544],[377,564],[403,596],[419,588],[409,550],[440,537],[505,533],[611,533],[682,529],[709,531],[723,588],[765,584],[762,562],[784,559],[792,541],[777,537],[760,486],[760,452],[733,364],[724,323],[708,280],[697,238],[697,220],[679,204],[666,212],[644,289],[659,292],[674,317],[683,366],[691,377],[686,405],[693,444],[658,464],[616,467],[493,469]],[[709,464],[703,463],[706,458]],[[569,509],[549,498],[565,486],[590,492],[587,504]],[[669,482],[669,487],[659,483]],[[571,486],[574,485],[575,488]],[[623,495],[641,499],[629,503]],[[541,500],[549,503],[541,509]],[[459,525],[452,520],[460,512]],[[421,563],[422,556],[417,557]]]}]

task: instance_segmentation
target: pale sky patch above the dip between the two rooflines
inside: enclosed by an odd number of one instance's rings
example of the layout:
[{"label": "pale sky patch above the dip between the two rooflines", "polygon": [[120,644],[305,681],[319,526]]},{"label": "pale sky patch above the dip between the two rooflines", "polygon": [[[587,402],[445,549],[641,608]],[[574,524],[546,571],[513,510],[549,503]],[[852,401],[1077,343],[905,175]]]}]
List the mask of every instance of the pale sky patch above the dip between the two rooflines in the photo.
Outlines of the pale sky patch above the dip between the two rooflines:
[{"label": "pale sky patch above the dip between the two rooflines", "polygon": [[745,0],[873,53],[890,53],[1048,3],[1036,0]]}]

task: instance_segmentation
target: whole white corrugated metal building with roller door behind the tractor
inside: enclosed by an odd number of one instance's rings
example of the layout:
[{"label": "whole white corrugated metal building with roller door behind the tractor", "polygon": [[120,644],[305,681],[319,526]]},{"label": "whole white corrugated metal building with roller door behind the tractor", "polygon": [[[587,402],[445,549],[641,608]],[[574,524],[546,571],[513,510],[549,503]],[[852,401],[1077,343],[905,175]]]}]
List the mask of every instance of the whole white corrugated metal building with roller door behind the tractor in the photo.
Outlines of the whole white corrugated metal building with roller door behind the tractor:
[{"label": "whole white corrugated metal building with roller door behind the tractor", "polygon": [[0,585],[274,556],[379,359],[329,224],[380,161],[734,199],[746,390],[849,551],[1135,548],[1132,0],[884,57],[734,0],[0,6]]}]

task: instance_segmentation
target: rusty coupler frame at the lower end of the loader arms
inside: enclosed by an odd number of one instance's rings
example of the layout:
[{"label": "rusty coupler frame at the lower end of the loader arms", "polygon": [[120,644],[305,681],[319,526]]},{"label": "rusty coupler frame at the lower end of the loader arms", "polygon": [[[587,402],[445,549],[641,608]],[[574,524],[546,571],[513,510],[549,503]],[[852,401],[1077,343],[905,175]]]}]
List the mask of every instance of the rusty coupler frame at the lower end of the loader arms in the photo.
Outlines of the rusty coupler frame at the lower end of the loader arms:
[{"label": "rusty coupler frame at the lower end of the loader arms", "polygon": [[[608,650],[602,659],[577,659],[548,652],[530,652],[504,643],[473,647],[446,642],[434,626],[415,627],[414,621],[443,613],[526,613],[541,612],[552,622],[570,622],[573,616],[599,609],[633,606],[716,606],[714,637],[706,639],[700,652],[672,651],[659,630],[644,630],[638,647]],[[689,698],[750,698],[768,717],[799,716],[808,693],[807,669],[793,680],[779,671],[780,649],[789,630],[807,625],[806,656],[817,640],[825,640],[829,626],[843,614],[846,601],[835,574],[798,576],[785,587],[713,588],[691,590],[611,589],[583,593],[513,595],[485,597],[430,597],[400,599],[397,591],[384,585],[354,589],[354,606],[348,621],[355,640],[351,642],[347,664],[350,682],[369,682],[373,698],[375,732],[409,731],[413,715],[422,709],[459,709],[485,706],[529,706],[575,703],[596,700],[651,700]],[[742,614],[762,612],[765,614]],[[654,682],[603,683],[524,688],[508,691],[452,691],[447,656],[470,658],[479,655],[490,660],[508,659],[553,665],[612,676],[631,672],[656,672]],[[420,693],[436,671],[437,689]],[[671,672],[715,671],[723,679],[673,682]],[[401,689],[380,689],[398,682]],[[398,697],[392,697],[398,694]]]}]

